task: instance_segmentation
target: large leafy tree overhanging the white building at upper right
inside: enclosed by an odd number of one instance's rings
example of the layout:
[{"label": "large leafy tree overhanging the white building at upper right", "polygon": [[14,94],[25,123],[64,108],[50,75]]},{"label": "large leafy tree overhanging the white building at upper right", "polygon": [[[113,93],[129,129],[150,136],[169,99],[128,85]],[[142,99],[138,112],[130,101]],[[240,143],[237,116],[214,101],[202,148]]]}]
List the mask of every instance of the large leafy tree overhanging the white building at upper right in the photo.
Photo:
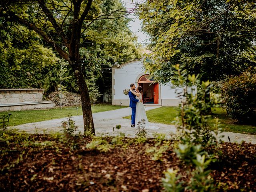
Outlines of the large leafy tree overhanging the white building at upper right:
[{"label": "large leafy tree overhanging the white building at upper right", "polygon": [[169,82],[175,64],[202,80],[220,80],[255,66],[255,0],[148,0],[140,4],[154,62],[146,68]]}]

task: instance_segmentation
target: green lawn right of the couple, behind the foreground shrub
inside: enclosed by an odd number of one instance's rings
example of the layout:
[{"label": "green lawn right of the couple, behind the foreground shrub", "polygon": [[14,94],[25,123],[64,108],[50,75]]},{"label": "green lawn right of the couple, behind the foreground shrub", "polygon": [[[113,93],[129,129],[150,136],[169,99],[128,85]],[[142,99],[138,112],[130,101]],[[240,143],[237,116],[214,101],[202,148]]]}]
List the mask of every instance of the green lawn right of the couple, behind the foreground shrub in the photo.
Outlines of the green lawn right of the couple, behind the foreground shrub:
[{"label": "green lawn right of the couple, behind the foreground shrub", "polygon": [[[173,124],[172,121],[178,115],[177,109],[176,107],[161,107],[149,110],[146,114],[150,122]],[[212,108],[212,112],[213,116],[210,120],[210,125],[214,124],[214,118],[219,118],[223,131],[256,135],[256,126],[236,124],[233,120],[228,118],[225,109]],[[124,118],[130,119],[131,116]]]}]

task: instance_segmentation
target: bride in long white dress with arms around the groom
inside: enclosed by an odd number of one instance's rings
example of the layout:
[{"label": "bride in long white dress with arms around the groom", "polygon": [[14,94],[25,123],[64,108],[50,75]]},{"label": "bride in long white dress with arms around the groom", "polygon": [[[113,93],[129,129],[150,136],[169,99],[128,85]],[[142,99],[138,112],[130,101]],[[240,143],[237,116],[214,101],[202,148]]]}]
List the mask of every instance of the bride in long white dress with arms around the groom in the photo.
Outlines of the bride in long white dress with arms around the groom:
[{"label": "bride in long white dress with arms around the groom", "polygon": [[[130,89],[130,92],[132,92],[134,95],[136,95],[136,99],[142,100],[142,86],[138,86],[136,88],[136,91],[133,91]],[[142,120],[145,120],[145,124],[142,125],[145,129],[158,129],[158,127],[152,127],[148,124],[148,118],[146,115],[145,107],[142,102],[138,102],[136,105],[136,114],[135,114],[135,126],[137,128],[138,122],[142,122]]]}]

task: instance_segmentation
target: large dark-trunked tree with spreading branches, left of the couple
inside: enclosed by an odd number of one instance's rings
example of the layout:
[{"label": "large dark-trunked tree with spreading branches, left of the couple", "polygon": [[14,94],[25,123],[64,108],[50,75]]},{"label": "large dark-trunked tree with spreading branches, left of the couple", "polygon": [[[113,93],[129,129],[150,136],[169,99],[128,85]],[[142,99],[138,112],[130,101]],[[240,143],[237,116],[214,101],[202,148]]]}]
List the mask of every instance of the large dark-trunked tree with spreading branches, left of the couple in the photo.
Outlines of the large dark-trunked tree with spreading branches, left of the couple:
[{"label": "large dark-trunked tree with spreading branches, left of the couple", "polygon": [[[96,38],[92,28],[102,21],[100,28],[112,30],[104,25],[106,20],[114,20],[128,14],[119,0],[1,0],[0,17],[8,22],[16,22],[39,34],[48,46],[68,61],[78,85],[84,118],[84,130],[95,134],[88,87],[82,62],[83,47],[93,45]],[[120,37],[120,35],[118,35]],[[129,36],[128,36],[129,37]],[[97,37],[104,43],[104,33]],[[112,36],[113,40],[116,36]],[[106,42],[106,41],[105,41]],[[89,67],[89,66],[88,66]]]}]

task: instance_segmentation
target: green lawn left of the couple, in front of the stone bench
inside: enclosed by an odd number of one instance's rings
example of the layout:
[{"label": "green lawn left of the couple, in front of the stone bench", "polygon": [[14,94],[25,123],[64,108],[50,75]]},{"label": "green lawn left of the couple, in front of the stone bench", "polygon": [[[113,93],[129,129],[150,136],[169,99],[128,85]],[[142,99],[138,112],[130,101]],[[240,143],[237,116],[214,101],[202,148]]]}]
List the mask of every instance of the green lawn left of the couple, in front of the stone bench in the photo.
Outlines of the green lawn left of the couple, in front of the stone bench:
[{"label": "green lawn left of the couple, in front of the stone bench", "polygon": [[[126,106],[112,106],[110,104],[96,104],[92,107],[92,112],[103,112],[109,110],[115,110],[119,108],[125,108]],[[11,113],[9,126],[15,126],[25,123],[39,122],[51,119],[58,119],[67,117],[68,114],[76,116],[76,107],[63,107],[47,109],[47,110],[28,110],[28,111],[11,111],[11,112],[0,112],[0,116],[3,114]],[[82,115],[82,108],[78,107],[78,115]]]}]

